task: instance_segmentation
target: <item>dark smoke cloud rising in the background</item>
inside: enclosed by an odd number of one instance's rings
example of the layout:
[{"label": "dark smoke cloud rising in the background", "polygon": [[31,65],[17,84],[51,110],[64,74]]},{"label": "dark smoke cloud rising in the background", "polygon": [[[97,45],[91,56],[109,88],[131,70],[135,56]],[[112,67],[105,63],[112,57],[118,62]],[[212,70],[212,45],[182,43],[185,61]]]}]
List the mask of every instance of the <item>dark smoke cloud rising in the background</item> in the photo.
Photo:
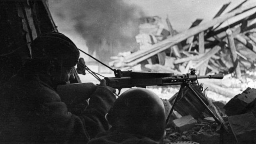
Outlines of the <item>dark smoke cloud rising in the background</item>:
[{"label": "dark smoke cloud rising in the background", "polygon": [[75,30],[86,40],[89,53],[96,51],[100,60],[108,62],[109,57],[118,52],[138,48],[135,36],[139,32],[139,18],[143,15],[138,7],[121,0],[68,0],[50,3],[55,7],[53,12],[59,18],[70,17]]}]

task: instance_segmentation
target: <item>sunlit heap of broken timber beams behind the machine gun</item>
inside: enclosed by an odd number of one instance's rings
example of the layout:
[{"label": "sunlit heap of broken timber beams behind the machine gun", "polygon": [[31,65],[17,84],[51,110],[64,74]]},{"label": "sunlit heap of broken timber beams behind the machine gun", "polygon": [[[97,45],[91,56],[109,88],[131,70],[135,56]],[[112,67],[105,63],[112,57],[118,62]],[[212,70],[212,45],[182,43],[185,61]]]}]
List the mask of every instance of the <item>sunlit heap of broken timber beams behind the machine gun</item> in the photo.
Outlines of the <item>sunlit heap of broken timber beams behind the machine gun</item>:
[{"label": "sunlit heap of broken timber beams behind the machine gun", "polygon": [[256,85],[256,76],[245,78],[246,72],[256,68],[256,8],[245,4],[224,13],[229,5],[225,4],[212,20],[197,19],[190,29],[180,33],[172,28],[168,17],[168,28],[158,16],[143,17],[136,36],[139,50],[112,56],[109,65],[121,70],[174,74],[186,74],[190,68],[196,68],[198,75],[222,73],[223,80],[199,82],[212,92],[232,98],[248,83],[249,87]]}]

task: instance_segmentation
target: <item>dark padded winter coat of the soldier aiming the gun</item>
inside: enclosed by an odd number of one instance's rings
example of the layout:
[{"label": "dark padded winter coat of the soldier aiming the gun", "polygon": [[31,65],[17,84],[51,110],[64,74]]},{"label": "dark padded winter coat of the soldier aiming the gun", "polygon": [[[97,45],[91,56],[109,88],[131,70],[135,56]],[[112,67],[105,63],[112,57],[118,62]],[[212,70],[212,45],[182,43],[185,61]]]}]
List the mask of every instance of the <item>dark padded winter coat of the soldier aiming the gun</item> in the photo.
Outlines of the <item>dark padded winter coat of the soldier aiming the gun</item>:
[{"label": "dark padded winter coat of the soldier aiming the gun", "polygon": [[98,86],[79,115],[69,112],[58,93],[40,80],[17,75],[1,86],[1,143],[86,143],[106,132],[116,97]]}]

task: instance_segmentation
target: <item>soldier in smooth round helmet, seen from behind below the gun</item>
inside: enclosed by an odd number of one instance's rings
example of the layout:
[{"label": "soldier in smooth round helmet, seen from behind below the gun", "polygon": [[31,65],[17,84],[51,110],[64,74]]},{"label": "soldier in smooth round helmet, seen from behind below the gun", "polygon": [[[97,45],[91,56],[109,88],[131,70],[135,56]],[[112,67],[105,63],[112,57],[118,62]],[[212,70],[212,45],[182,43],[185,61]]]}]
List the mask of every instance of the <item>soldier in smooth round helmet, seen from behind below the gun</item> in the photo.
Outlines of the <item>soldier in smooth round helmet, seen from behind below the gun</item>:
[{"label": "soldier in smooth round helmet, seen from behind below the gun", "polygon": [[[165,111],[162,100],[144,88],[132,88],[119,96],[106,115],[111,128],[89,143],[162,143]],[[167,142],[166,142],[167,143]]]}]

